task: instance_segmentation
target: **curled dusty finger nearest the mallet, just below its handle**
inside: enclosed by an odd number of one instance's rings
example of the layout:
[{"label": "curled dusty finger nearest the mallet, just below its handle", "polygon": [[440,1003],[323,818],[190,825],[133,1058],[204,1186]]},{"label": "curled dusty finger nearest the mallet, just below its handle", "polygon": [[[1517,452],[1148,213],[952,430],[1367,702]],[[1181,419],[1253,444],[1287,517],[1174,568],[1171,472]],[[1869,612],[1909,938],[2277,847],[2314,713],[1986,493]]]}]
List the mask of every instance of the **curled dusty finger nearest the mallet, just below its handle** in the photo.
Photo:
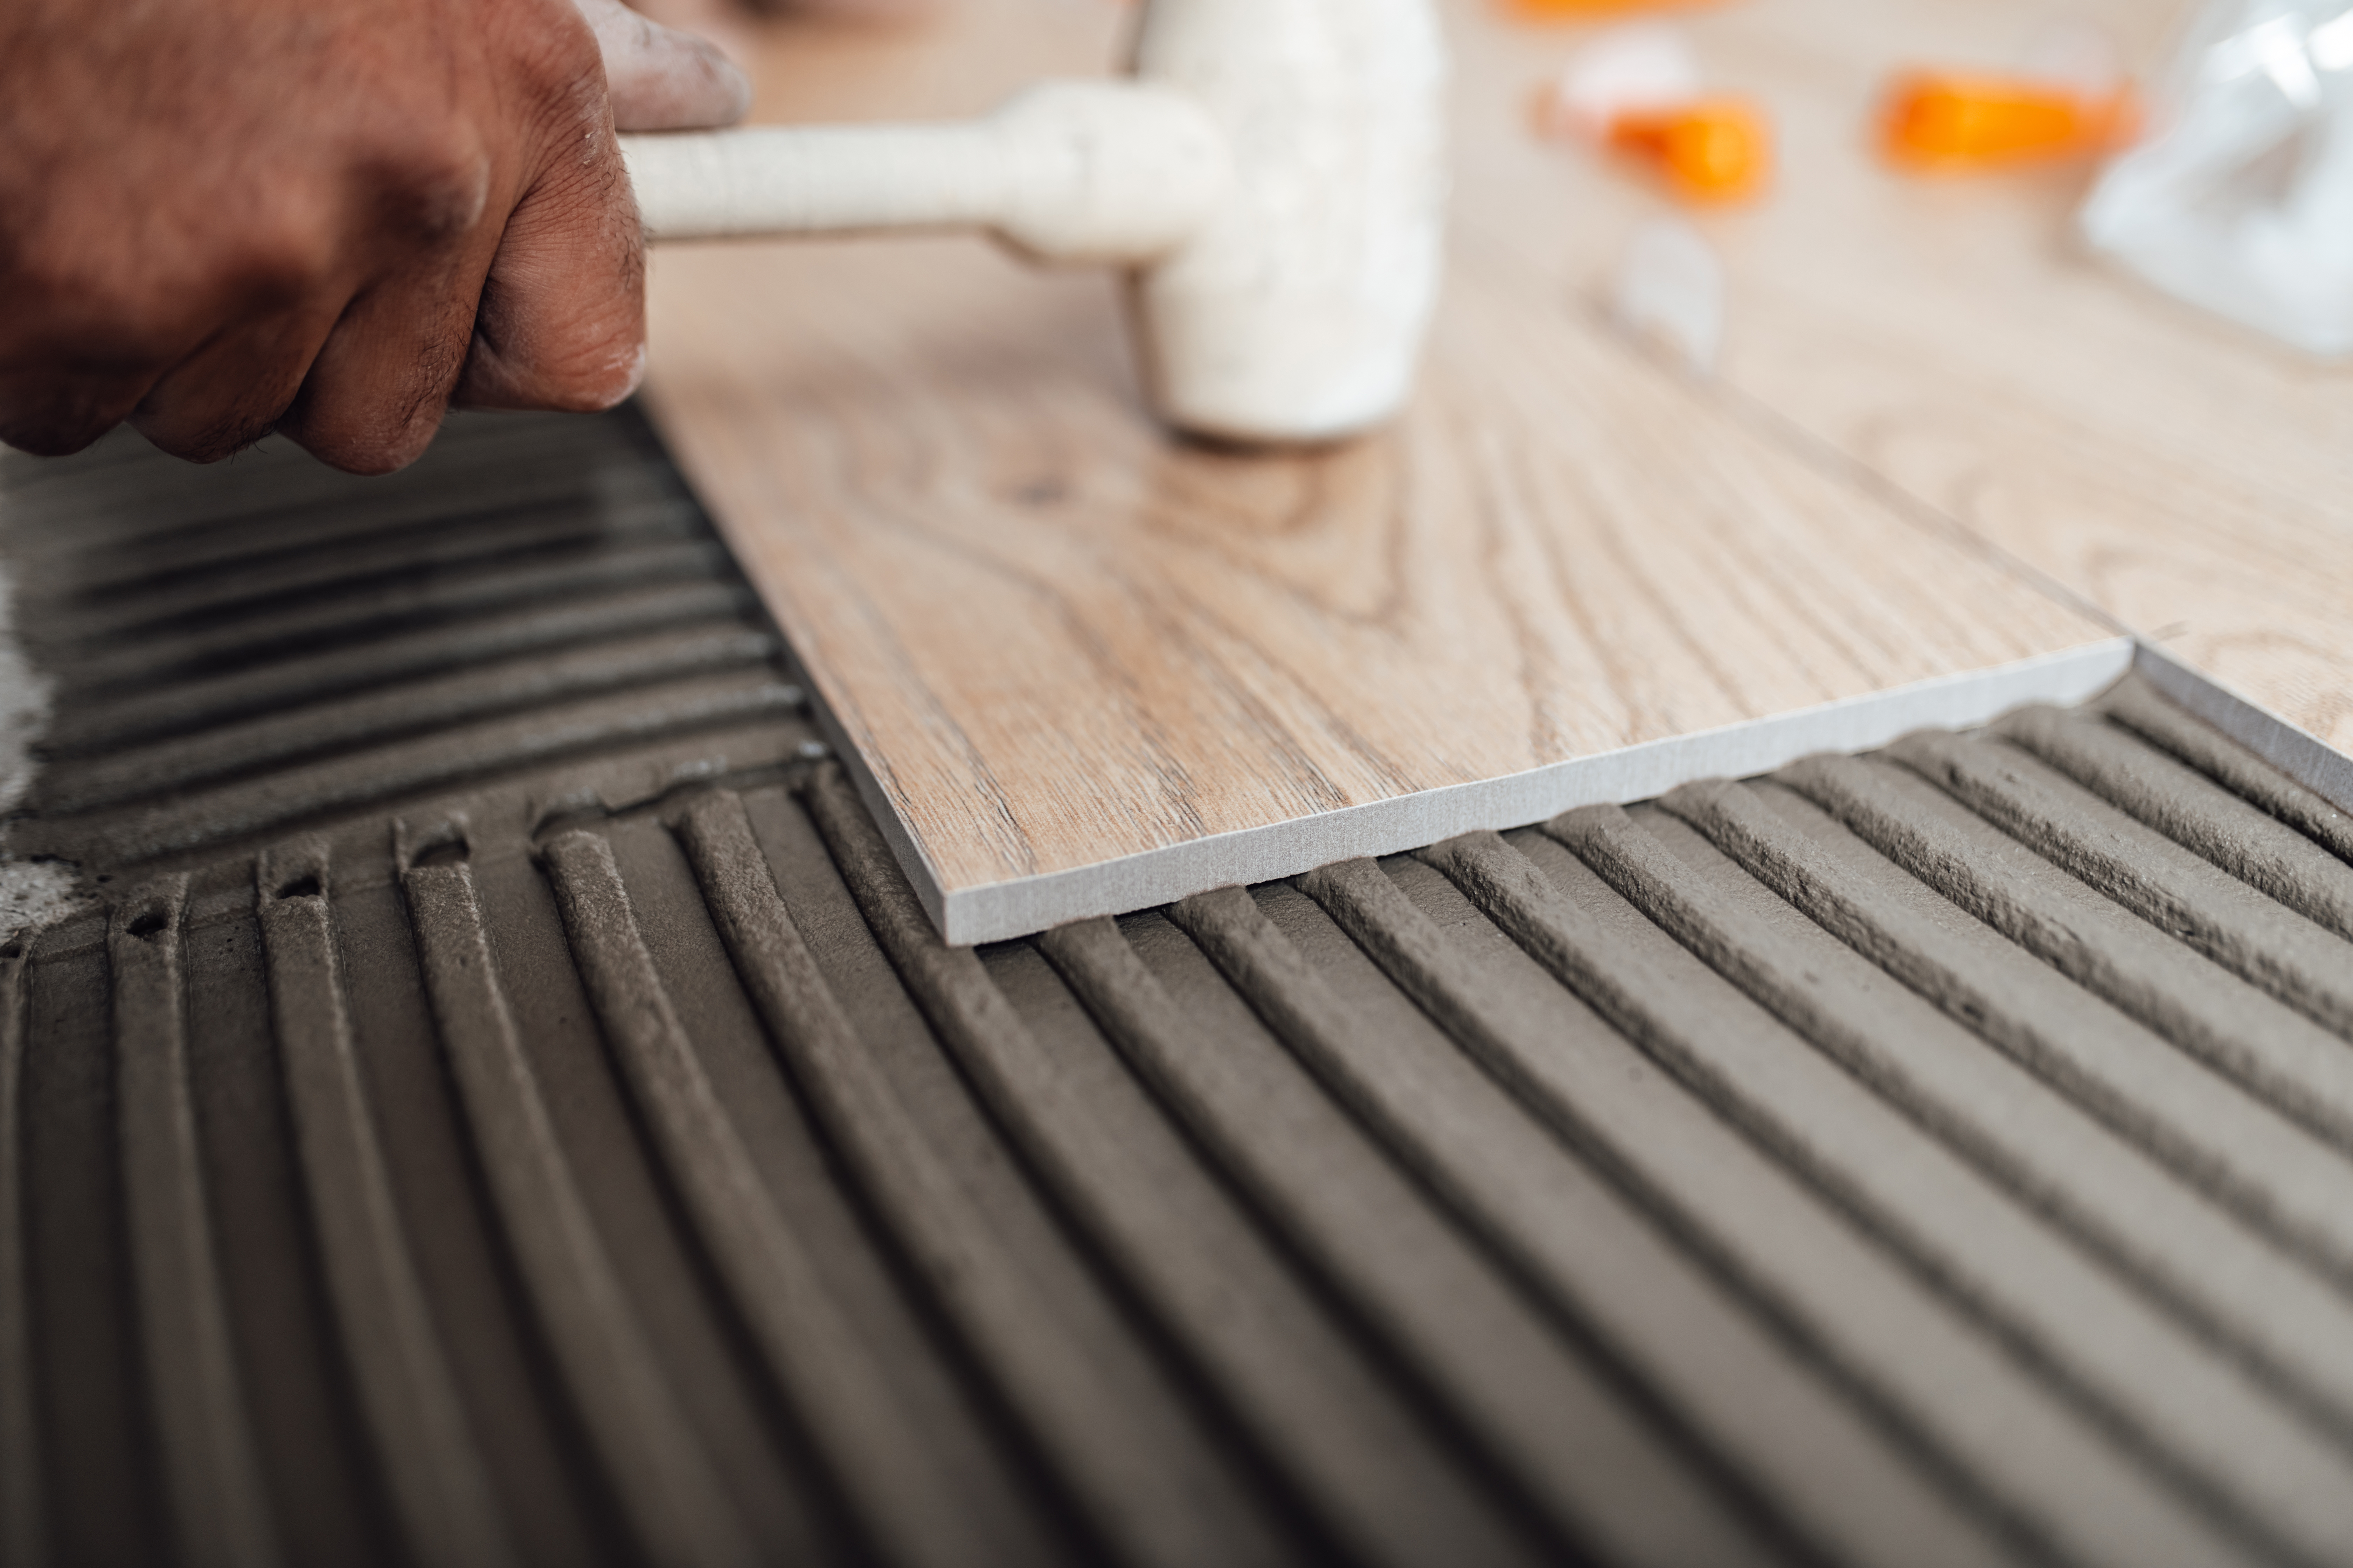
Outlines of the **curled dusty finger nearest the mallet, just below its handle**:
[{"label": "curled dusty finger nearest the mallet, just below its handle", "polygon": [[609,129],[553,160],[506,219],[456,402],[609,409],[645,376],[645,230]]}]

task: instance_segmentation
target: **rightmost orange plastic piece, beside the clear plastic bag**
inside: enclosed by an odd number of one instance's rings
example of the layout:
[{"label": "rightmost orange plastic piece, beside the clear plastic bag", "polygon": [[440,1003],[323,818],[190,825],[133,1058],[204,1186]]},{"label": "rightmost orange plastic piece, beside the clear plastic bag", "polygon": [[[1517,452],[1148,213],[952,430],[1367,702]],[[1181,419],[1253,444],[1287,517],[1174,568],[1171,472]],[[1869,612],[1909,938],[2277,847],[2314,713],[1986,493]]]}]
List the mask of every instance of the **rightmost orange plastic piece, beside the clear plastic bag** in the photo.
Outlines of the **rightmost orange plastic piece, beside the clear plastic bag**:
[{"label": "rightmost orange plastic piece, beside the clear plastic bag", "polygon": [[1887,89],[1880,150],[1906,169],[1967,174],[2101,153],[2137,125],[2125,87],[2082,94],[2035,78],[1913,71]]}]

